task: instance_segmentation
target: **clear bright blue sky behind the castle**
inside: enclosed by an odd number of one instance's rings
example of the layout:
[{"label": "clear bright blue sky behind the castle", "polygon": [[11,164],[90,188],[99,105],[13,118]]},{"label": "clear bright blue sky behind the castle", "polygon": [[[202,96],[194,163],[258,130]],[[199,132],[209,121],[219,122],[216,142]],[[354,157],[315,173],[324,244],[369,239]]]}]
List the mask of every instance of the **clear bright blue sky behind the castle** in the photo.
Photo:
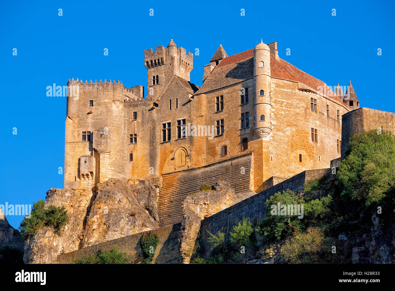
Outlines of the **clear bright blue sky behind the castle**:
[{"label": "clear bright blue sky behind the castle", "polygon": [[[32,204],[64,186],[58,167],[64,167],[66,98],[47,97],[47,86],[79,78],[146,88],[144,49],[167,46],[171,38],[187,51],[199,49],[191,72],[199,86],[219,44],[232,55],[263,38],[278,43],[280,58],[329,86],[351,79],[361,107],[395,112],[392,1],[55,2],[0,4],[3,205]],[[7,219],[17,228],[23,217]]]}]

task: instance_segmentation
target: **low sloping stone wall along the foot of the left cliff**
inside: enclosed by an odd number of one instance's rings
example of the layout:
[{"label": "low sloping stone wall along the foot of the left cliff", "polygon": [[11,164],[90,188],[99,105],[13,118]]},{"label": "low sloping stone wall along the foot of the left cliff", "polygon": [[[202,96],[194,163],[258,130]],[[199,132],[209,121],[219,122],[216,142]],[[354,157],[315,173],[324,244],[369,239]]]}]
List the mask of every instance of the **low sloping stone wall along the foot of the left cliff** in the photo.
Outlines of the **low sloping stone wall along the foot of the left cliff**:
[{"label": "low sloping stone wall along the foot of the left cliff", "polygon": [[[159,243],[155,250],[153,262],[156,264],[177,264],[181,263],[181,244],[178,240],[181,223],[164,226],[155,230],[150,230],[159,236]],[[65,253],[58,256],[59,264],[69,264],[75,259],[83,258],[88,255],[94,255],[99,250],[111,251],[116,245],[119,251],[126,252],[137,259],[143,261],[143,251],[141,249],[140,238],[144,233],[140,232],[131,236],[125,236],[116,240],[99,243],[90,247],[85,247],[71,253]]]}]

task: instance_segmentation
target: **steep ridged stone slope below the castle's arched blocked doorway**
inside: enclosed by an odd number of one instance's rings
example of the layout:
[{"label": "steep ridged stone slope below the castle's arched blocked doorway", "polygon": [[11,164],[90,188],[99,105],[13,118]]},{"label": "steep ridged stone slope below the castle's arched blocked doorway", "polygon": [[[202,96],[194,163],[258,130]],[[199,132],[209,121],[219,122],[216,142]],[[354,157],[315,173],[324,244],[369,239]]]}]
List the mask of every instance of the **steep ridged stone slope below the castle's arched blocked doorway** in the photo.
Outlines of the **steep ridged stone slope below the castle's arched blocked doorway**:
[{"label": "steep ridged stone slope below the castle's arched blocked doorway", "polygon": [[182,221],[182,201],[190,192],[198,192],[203,184],[218,180],[230,184],[236,193],[250,189],[252,154],[246,154],[204,167],[162,175],[163,185],[158,198],[159,225]]}]

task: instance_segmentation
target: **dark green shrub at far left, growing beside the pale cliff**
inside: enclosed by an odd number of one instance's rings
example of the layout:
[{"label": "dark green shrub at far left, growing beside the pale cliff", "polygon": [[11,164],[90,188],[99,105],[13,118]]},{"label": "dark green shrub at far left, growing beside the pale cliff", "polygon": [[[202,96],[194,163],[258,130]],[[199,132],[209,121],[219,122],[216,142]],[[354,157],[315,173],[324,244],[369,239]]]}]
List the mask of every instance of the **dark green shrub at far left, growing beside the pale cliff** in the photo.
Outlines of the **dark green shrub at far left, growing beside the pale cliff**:
[{"label": "dark green shrub at far left, growing beside the pale cliff", "polygon": [[68,222],[67,211],[64,206],[56,207],[49,205],[44,207],[44,200],[33,204],[30,218],[24,218],[19,229],[24,238],[34,236],[38,229],[43,226],[53,227],[56,234],[60,234]]}]

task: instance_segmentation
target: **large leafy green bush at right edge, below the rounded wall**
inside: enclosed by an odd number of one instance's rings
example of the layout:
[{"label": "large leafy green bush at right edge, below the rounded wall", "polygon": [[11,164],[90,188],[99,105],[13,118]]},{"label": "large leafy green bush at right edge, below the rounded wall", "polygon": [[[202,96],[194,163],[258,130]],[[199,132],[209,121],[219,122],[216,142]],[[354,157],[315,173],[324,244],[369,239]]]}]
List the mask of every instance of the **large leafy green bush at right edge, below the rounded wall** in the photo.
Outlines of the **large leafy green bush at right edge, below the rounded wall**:
[{"label": "large leafy green bush at right edge, below the rounded wall", "polygon": [[395,185],[395,136],[376,130],[354,135],[336,178],[345,202],[369,206],[379,202]]}]

